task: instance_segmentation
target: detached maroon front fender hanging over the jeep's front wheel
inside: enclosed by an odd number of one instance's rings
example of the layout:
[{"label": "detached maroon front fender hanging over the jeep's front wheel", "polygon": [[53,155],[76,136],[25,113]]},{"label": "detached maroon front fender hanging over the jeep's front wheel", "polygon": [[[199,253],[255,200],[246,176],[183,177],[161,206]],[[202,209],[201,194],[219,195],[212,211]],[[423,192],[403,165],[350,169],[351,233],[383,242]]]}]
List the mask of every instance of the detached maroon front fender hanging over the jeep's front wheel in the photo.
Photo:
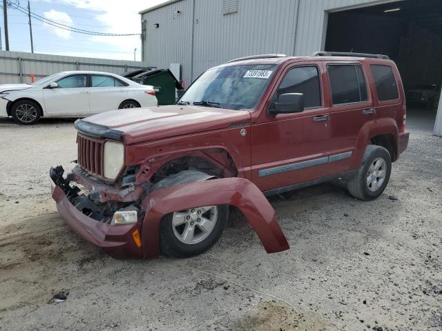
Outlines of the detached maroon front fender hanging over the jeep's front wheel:
[{"label": "detached maroon front fender hanging over the jeep's front wheel", "polygon": [[160,221],[164,215],[203,205],[234,205],[247,218],[267,253],[289,249],[276,222],[275,210],[256,185],[247,179],[225,178],[177,185],[149,194],[142,201],[146,213],[142,224],[144,257],[160,254]]}]

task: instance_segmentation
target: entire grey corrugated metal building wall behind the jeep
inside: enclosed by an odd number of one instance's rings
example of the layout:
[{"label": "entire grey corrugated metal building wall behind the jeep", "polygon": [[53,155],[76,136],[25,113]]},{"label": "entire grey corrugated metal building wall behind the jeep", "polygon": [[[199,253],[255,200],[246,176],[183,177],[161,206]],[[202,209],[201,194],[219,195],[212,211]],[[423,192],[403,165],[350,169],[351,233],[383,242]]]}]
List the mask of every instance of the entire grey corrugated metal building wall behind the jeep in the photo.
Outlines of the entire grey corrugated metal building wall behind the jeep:
[{"label": "entire grey corrugated metal building wall behind the jeep", "polygon": [[207,68],[236,57],[323,50],[329,11],[392,1],[238,0],[238,12],[226,15],[223,0],[173,1],[142,14],[147,21],[144,61],[158,68],[181,63],[189,85]]}]

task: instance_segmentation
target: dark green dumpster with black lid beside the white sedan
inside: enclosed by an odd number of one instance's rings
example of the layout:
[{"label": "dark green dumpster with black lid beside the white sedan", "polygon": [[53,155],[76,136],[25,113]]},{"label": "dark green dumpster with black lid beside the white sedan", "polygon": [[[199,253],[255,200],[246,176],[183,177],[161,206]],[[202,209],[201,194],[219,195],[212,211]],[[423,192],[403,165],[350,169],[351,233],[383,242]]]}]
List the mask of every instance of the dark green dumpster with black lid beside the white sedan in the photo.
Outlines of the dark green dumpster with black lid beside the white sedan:
[{"label": "dark green dumpster with black lid beside the white sedan", "polygon": [[133,78],[141,78],[142,84],[153,86],[159,105],[173,105],[176,101],[175,88],[182,90],[181,83],[175,79],[169,69],[144,72]]}]

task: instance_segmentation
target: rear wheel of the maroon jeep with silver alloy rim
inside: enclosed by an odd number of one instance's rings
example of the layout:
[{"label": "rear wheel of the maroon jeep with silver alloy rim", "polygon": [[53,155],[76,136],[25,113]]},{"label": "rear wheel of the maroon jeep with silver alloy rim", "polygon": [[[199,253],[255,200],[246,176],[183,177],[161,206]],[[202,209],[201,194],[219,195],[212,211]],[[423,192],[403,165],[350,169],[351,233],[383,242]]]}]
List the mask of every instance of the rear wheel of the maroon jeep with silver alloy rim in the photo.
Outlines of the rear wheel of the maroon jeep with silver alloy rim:
[{"label": "rear wheel of the maroon jeep with silver alloy rim", "polygon": [[387,187],[392,172],[392,158],[381,146],[369,145],[356,176],[347,182],[348,192],[364,201],[379,197]]}]

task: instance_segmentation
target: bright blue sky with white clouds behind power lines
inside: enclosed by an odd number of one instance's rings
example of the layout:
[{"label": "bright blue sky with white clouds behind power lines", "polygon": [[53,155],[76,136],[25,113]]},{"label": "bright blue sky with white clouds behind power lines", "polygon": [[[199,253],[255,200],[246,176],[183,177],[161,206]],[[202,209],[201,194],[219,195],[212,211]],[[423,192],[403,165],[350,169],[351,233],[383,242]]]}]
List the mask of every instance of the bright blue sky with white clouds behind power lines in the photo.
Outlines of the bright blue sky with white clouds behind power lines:
[{"label": "bright blue sky with white clouds behind power lines", "polygon": [[[73,28],[107,33],[141,33],[138,12],[166,0],[30,0],[30,10],[35,14]],[[27,0],[8,0],[9,48],[30,52],[28,17],[13,8],[14,3],[28,7]],[[3,10],[3,8],[0,8]],[[1,21],[1,49],[6,50],[3,13]],[[79,34],[49,26],[32,19],[34,52],[96,57],[102,59],[141,61],[139,35],[103,37]]]}]

